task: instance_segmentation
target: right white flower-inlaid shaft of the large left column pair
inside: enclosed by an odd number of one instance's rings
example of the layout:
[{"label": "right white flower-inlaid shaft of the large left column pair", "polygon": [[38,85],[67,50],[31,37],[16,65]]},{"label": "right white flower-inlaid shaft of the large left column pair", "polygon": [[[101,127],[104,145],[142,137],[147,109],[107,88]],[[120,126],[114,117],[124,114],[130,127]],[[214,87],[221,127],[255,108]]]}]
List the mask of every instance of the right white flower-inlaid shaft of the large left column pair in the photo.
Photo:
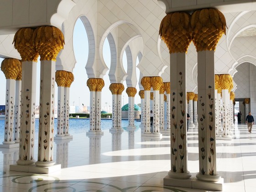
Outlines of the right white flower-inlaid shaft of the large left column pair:
[{"label": "right white flower-inlaid shaft of the large left column pair", "polygon": [[42,60],[37,166],[51,166],[53,160],[55,61]]}]

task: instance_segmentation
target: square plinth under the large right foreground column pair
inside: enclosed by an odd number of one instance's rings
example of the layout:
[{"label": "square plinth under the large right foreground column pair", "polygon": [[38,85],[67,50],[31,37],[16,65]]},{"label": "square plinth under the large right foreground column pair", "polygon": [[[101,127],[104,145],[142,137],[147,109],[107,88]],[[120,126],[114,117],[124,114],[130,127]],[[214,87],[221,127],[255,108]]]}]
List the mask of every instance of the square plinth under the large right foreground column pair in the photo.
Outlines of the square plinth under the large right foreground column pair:
[{"label": "square plinth under the large right foreground column pair", "polygon": [[164,185],[176,186],[176,187],[187,187],[194,189],[206,189],[210,191],[222,191],[223,190],[224,179],[220,178],[217,182],[206,182],[200,181],[193,174],[191,178],[188,179],[174,179],[170,176],[165,176]]}]

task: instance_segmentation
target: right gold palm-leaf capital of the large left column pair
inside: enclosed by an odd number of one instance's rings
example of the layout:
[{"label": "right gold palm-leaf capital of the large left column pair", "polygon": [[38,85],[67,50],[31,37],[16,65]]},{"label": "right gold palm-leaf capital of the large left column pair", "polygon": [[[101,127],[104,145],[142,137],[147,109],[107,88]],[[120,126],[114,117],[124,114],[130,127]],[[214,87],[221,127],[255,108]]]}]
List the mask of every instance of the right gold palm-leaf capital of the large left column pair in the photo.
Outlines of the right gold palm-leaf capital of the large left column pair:
[{"label": "right gold palm-leaf capital of the large left column pair", "polygon": [[65,44],[63,33],[57,27],[52,26],[37,27],[33,33],[33,43],[41,61],[56,61],[59,51]]}]

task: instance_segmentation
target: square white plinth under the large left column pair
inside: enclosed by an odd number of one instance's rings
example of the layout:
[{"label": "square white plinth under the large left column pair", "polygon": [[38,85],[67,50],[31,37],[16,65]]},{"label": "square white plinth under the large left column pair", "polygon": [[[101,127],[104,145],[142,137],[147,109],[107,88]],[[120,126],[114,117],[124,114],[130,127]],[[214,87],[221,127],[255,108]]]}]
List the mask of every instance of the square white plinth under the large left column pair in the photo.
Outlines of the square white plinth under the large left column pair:
[{"label": "square white plinth under the large left column pair", "polygon": [[38,167],[37,165],[10,165],[10,171],[22,171],[22,172],[31,172],[31,173],[42,173],[50,174],[56,171],[61,170],[61,164],[53,165],[49,167]]}]

